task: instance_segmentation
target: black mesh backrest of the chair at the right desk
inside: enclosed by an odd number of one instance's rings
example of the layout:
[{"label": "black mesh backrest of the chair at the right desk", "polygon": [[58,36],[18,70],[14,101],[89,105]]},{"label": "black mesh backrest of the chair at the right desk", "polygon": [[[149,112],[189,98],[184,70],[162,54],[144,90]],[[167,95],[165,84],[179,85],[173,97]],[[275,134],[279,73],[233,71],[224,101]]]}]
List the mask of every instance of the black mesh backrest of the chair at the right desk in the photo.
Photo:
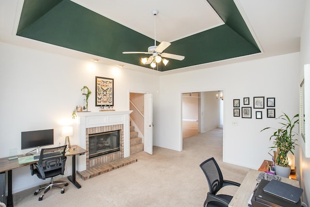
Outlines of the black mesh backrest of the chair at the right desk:
[{"label": "black mesh backrest of the chair at the right desk", "polygon": [[217,191],[223,187],[223,175],[216,160],[214,158],[207,159],[200,164],[200,167],[208,180],[209,192],[217,194]]}]

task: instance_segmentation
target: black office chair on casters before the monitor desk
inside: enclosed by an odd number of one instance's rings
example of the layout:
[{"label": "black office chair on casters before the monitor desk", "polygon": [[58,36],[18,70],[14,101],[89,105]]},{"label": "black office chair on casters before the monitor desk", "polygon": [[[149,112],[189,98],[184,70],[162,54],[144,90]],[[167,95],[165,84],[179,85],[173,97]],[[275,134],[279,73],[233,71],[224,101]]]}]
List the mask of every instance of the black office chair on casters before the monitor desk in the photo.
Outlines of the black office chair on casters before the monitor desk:
[{"label": "black office chair on casters before the monitor desk", "polygon": [[59,185],[68,185],[67,182],[53,181],[54,176],[63,175],[64,173],[64,165],[67,159],[64,156],[66,146],[67,145],[41,149],[38,163],[30,165],[31,175],[37,175],[43,180],[49,177],[51,178],[49,185],[39,188],[34,192],[34,194],[37,195],[39,191],[45,189],[44,193],[40,195],[39,201],[42,201],[44,194],[47,193],[47,191],[49,191],[52,187],[60,188],[62,189],[61,193],[64,193],[64,188]]}]

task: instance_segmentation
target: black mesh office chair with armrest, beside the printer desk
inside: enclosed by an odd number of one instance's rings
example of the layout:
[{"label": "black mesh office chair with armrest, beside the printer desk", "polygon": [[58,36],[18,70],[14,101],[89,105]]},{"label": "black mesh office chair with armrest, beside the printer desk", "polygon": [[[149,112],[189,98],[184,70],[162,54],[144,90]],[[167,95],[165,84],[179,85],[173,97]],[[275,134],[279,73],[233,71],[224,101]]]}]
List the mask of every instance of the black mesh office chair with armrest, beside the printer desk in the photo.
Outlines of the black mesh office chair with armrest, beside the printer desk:
[{"label": "black mesh office chair with armrest, beside the printer desk", "polygon": [[233,196],[217,194],[217,192],[224,186],[228,185],[239,187],[240,183],[230,180],[223,180],[222,172],[214,158],[205,160],[200,164],[200,167],[202,168],[209,184],[209,192],[207,193],[207,198],[204,201],[203,207],[228,207],[228,204],[233,199]]}]

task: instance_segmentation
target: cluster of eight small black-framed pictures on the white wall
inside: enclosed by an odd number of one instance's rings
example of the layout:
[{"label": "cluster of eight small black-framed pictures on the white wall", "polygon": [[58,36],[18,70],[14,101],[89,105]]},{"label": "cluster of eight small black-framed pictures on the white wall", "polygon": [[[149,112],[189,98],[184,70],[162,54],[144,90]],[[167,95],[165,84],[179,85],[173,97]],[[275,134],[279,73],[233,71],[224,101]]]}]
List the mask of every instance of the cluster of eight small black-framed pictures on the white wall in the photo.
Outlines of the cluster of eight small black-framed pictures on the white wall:
[{"label": "cluster of eight small black-framed pictures on the white wall", "polygon": [[250,97],[244,97],[241,105],[240,99],[233,99],[233,116],[251,119],[253,109],[253,116],[255,115],[256,119],[276,118],[275,97],[255,96],[252,100],[253,103]]}]

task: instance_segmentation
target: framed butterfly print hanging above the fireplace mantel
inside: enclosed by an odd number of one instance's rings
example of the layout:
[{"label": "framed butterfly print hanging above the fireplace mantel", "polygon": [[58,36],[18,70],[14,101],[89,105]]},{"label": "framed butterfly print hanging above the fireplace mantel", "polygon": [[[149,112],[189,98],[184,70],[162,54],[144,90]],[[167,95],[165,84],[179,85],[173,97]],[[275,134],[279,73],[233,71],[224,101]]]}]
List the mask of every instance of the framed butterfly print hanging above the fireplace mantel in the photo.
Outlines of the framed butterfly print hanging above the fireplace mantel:
[{"label": "framed butterfly print hanging above the fireplace mantel", "polygon": [[96,106],[114,105],[114,79],[96,76]]}]

